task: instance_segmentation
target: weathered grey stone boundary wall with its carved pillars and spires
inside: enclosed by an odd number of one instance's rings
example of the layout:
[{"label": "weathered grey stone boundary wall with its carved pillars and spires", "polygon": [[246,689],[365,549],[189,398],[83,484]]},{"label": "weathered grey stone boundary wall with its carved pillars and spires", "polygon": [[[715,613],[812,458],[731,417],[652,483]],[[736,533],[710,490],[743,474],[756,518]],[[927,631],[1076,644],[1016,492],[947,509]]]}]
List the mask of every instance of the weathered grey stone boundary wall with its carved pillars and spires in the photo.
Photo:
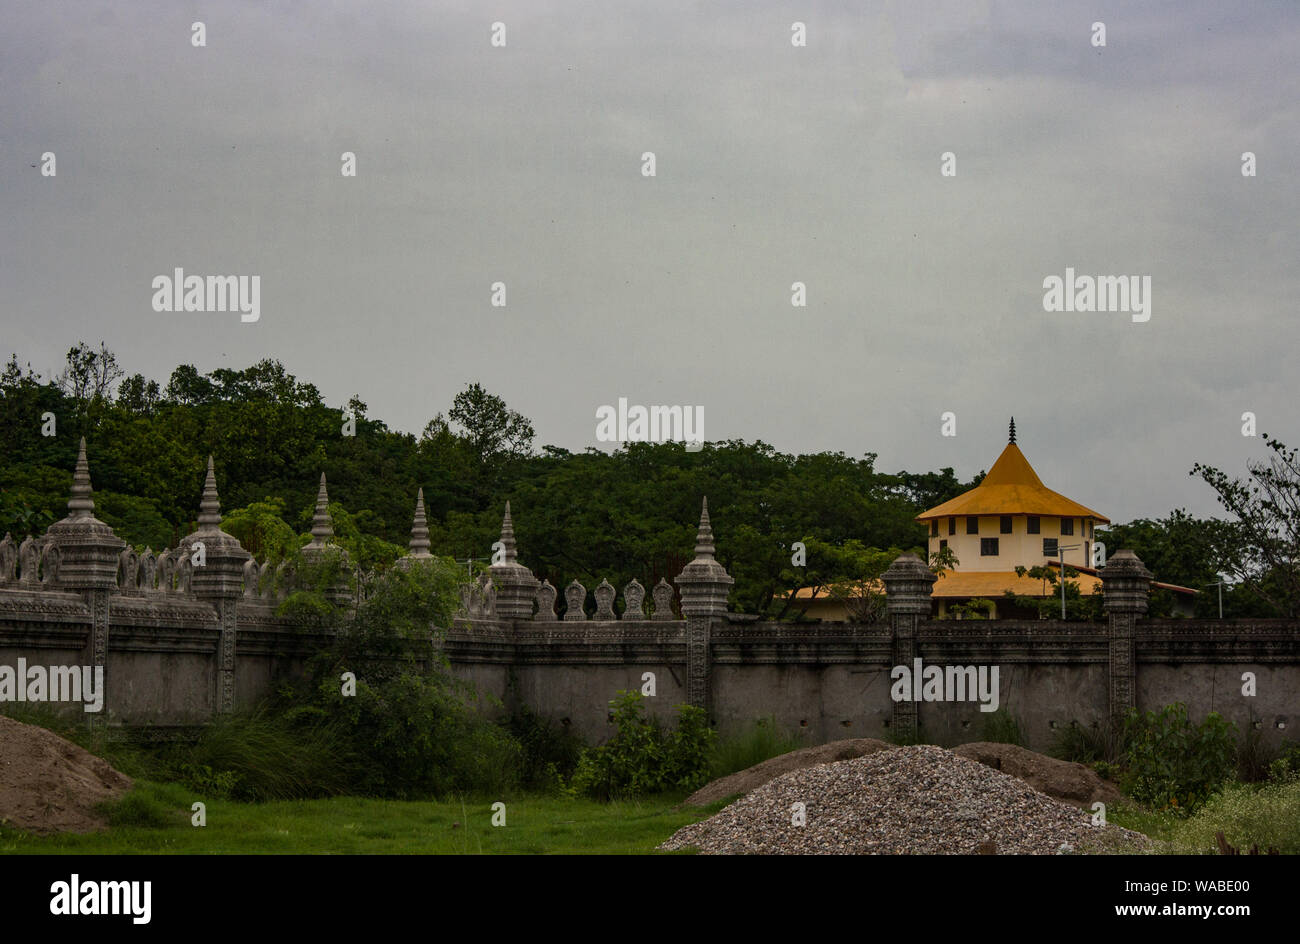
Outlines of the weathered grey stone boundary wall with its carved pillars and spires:
[{"label": "weathered grey stone boundary wall with its carved pillars and spires", "polygon": [[[332,546],[325,489],[322,476],[308,555]],[[0,541],[0,666],[21,658],[104,668],[105,710],[65,710],[109,726],[202,724],[264,700],[328,641],[276,616],[291,572],[259,567],[220,531],[211,460],[199,531],[176,549],[136,554],[92,510],[83,447],[69,516],[40,540]],[[202,566],[192,564],[195,545]],[[398,566],[419,566],[428,547],[421,494],[411,554]],[[594,619],[577,581],[564,588],[556,615],[560,594],[517,560],[508,503],[500,549],[489,573],[462,589],[454,627],[432,645],[489,703],[499,702],[495,710],[528,705],[592,741],[612,733],[610,700],[640,690],[647,672],[653,714],[668,720],[673,706],[698,705],[724,733],[770,716],[809,742],[980,740],[991,714],[976,701],[892,697],[892,670],[915,659],[996,666],[1000,715],[1037,749],[1072,723],[1106,726],[1130,707],[1175,701],[1195,719],[1218,711],[1269,742],[1294,739],[1300,724],[1300,620],[1145,619],[1152,575],[1131,551],[1101,571],[1102,623],[933,620],[935,576],[907,554],[883,577],[887,619],[859,625],[728,612],[732,579],[715,558],[707,503],[696,558],[675,586],[660,581],[647,594],[629,583],[623,619],[608,581],[592,590]],[[1243,672],[1254,675],[1252,697],[1243,694]]]}]

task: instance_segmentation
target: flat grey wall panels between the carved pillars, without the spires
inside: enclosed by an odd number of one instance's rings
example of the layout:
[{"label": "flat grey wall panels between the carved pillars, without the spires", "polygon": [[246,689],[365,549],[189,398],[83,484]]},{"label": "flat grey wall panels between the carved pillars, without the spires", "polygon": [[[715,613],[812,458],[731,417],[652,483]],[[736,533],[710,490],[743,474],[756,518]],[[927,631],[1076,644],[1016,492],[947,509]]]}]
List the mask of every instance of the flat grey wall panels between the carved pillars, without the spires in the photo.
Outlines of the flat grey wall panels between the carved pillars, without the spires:
[{"label": "flat grey wall panels between the carved pillars, without the spires", "polygon": [[[112,594],[107,646],[110,724],[202,723],[217,711],[221,632],[213,606],[181,593]],[[90,664],[91,606],[78,593],[0,589],[0,664]],[[1268,741],[1300,726],[1300,622],[1145,620],[1134,623],[1139,709],[1182,701],[1191,715],[1218,711]],[[1030,746],[1050,745],[1071,723],[1109,711],[1110,629],[1104,623],[919,620],[924,664],[997,666],[998,701]],[[325,642],[291,632],[270,602],[240,601],[235,706],[255,705],[302,674]],[[894,664],[890,624],[780,624],[744,616],[712,622],[708,709],[723,733],[775,718],[810,744],[890,733]],[[458,620],[441,644],[452,671],[485,710],[529,705],[589,741],[612,733],[608,702],[654,672],[650,711],[664,720],[686,701],[686,622]],[[1253,672],[1256,694],[1242,693]],[[920,702],[922,735],[940,744],[979,740],[988,714],[975,702]],[[66,710],[79,711],[79,706]]]}]

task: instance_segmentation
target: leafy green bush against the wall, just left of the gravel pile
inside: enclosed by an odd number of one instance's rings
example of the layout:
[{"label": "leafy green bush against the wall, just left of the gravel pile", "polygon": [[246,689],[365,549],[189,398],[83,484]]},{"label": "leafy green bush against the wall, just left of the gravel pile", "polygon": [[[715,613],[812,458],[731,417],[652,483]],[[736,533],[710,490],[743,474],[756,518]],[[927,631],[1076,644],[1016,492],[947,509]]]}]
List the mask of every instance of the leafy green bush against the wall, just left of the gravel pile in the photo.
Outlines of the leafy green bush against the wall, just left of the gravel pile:
[{"label": "leafy green bush against the wall, just left of the gravel pile", "polygon": [[677,727],[666,733],[658,719],[646,718],[640,692],[619,692],[610,702],[616,733],[606,744],[582,752],[569,791],[598,800],[694,791],[708,781],[716,735],[705,711],[677,706]]}]

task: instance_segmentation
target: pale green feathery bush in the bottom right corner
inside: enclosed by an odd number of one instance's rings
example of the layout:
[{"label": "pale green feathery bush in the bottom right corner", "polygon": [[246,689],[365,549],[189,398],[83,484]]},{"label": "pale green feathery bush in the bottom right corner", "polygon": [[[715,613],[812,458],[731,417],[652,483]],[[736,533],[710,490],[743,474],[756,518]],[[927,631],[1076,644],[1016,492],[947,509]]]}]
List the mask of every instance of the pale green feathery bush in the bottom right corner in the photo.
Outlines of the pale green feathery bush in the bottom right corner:
[{"label": "pale green feathery bush in the bottom right corner", "polygon": [[1218,852],[1216,832],[1248,850],[1274,848],[1282,854],[1300,853],[1300,780],[1262,787],[1230,784],[1188,819],[1175,827],[1174,850],[1183,854]]}]

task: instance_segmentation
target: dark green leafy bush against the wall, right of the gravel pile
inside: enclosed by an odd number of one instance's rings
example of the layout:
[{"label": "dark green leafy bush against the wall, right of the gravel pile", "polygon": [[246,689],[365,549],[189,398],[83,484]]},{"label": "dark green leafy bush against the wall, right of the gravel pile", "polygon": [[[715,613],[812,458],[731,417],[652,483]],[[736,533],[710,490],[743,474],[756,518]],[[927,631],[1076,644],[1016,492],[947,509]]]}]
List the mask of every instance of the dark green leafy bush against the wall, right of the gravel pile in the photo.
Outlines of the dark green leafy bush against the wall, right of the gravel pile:
[{"label": "dark green leafy bush against the wall, right of the gravel pile", "polygon": [[1214,711],[1192,724],[1182,702],[1160,713],[1131,710],[1124,735],[1128,765],[1123,787],[1134,800],[1156,810],[1195,810],[1236,766],[1232,724]]}]

